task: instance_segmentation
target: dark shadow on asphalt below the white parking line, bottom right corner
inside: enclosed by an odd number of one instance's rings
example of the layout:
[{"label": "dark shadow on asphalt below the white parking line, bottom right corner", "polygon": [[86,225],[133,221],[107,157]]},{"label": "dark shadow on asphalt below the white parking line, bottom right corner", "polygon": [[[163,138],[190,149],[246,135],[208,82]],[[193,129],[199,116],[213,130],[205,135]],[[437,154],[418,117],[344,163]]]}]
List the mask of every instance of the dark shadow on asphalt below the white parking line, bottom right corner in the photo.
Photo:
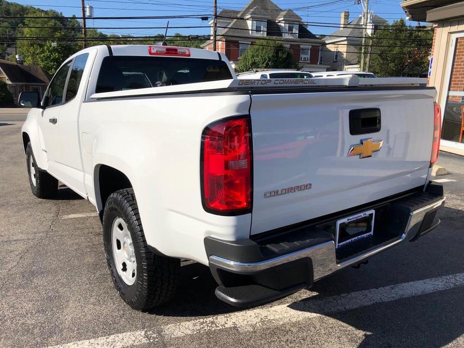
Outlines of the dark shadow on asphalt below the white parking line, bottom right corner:
[{"label": "dark shadow on asphalt below the white parking line, bottom right corner", "polygon": [[289,307],[340,321],[339,325],[333,324],[340,329],[339,334],[347,326],[365,331],[358,347],[441,347],[464,333],[464,292],[459,288],[337,313],[312,306],[313,301],[323,297],[317,295]]}]

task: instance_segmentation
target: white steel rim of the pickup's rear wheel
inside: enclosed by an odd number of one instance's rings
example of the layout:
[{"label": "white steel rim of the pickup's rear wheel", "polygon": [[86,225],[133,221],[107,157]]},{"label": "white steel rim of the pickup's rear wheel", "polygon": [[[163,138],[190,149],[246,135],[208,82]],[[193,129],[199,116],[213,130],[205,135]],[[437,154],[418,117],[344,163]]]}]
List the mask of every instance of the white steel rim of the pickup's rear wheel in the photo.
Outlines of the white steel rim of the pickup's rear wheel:
[{"label": "white steel rim of the pickup's rear wheel", "polygon": [[124,283],[132,285],[137,278],[137,262],[129,229],[120,217],[114,218],[111,226],[111,249],[117,273]]}]

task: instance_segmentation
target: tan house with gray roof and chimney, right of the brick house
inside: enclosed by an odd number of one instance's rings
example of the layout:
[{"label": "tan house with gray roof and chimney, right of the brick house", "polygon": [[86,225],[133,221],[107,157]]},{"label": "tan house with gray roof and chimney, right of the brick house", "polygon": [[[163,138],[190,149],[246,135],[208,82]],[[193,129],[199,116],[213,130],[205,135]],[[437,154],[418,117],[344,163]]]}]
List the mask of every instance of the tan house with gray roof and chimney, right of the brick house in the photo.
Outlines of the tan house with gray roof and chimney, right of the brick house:
[{"label": "tan house with gray roof and chimney, right of the brick house", "polygon": [[[372,35],[377,26],[385,24],[388,24],[385,19],[369,13],[367,35]],[[329,65],[328,70],[330,71],[359,71],[359,52],[362,44],[363,28],[363,15],[350,22],[350,12],[342,12],[340,29],[323,38],[326,45],[321,54],[321,63]]]}]

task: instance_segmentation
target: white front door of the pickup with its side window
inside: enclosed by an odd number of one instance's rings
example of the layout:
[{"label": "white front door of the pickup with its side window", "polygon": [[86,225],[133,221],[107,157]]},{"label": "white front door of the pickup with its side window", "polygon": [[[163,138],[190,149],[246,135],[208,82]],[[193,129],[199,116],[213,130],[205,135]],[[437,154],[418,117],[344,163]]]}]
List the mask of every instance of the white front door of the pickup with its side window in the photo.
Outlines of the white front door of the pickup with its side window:
[{"label": "white front door of the pickup with its side window", "polygon": [[48,170],[55,176],[59,176],[57,161],[61,157],[59,119],[63,104],[64,88],[71,63],[72,60],[63,65],[53,77],[44,96],[44,102],[47,107],[42,111],[39,118],[41,148],[47,158]]}]

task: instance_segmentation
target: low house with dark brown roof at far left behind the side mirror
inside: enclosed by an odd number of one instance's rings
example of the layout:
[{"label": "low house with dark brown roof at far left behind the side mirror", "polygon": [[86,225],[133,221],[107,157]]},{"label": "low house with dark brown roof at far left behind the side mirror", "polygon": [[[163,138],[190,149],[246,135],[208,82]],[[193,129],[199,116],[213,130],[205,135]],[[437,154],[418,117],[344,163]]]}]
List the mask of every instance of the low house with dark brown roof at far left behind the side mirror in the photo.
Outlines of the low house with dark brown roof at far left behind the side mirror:
[{"label": "low house with dark brown roof at far left behind the side mirror", "polygon": [[21,92],[35,91],[45,93],[50,75],[36,65],[23,65],[0,59],[0,80],[8,85],[15,103]]}]

